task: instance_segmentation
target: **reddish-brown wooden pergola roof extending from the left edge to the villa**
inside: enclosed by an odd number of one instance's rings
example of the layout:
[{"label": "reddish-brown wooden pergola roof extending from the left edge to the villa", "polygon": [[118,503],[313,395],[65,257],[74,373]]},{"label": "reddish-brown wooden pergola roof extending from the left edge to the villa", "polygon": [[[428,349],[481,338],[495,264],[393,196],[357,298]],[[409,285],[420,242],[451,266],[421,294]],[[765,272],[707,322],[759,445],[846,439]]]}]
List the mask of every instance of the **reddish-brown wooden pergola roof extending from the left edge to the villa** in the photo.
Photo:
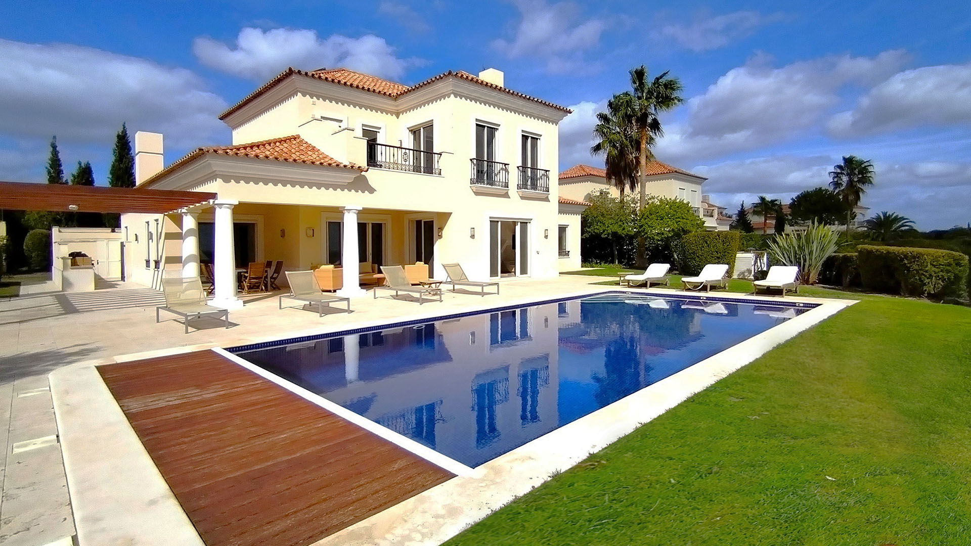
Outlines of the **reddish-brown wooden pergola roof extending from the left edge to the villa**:
[{"label": "reddish-brown wooden pergola roof extending from the left edge to the villa", "polygon": [[15,211],[167,214],[216,198],[206,191],[0,182],[0,209]]}]

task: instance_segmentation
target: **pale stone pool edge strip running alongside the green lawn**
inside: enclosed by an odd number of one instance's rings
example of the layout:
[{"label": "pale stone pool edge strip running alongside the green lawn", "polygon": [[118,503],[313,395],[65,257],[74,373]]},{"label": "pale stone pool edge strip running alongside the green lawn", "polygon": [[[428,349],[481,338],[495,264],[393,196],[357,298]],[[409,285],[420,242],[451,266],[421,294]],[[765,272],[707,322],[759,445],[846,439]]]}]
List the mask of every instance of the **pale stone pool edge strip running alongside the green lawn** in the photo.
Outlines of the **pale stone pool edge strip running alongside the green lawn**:
[{"label": "pale stone pool edge strip running alongside the green lawn", "polygon": [[[646,290],[621,291],[646,293]],[[663,296],[664,293],[685,293],[658,291],[660,293],[653,290],[649,293],[658,296]],[[736,297],[737,295],[742,297]],[[779,299],[743,294],[717,293],[711,296],[750,304],[778,305],[780,302]],[[513,451],[477,466],[471,473],[457,475],[347,529],[331,534],[315,542],[313,546],[441,544],[548,481],[556,473],[585,460],[589,454],[600,451],[798,333],[856,303],[856,300],[797,297],[787,298],[787,301],[818,306],[609,406],[555,428]]]}]

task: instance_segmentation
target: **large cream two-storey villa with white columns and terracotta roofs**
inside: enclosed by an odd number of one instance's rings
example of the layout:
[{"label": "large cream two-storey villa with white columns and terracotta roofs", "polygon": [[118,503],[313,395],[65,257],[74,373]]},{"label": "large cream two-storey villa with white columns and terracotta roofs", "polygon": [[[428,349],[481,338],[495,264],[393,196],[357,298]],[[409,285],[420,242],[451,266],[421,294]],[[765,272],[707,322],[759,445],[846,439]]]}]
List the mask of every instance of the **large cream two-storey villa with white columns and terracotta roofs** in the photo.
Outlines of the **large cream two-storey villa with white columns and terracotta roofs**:
[{"label": "large cream two-storey villa with white columns and terracotta roofs", "polygon": [[218,199],[123,215],[127,278],[151,286],[213,263],[214,304],[235,307],[237,269],[269,259],[340,266],[348,295],[363,293],[359,272],[389,264],[422,262],[439,279],[452,261],[476,280],[553,277],[580,259],[583,204],[562,203],[551,174],[569,112],[495,69],[417,85],[287,69],[219,117],[232,145],[163,168],[162,135],[136,134],[138,188]]}]

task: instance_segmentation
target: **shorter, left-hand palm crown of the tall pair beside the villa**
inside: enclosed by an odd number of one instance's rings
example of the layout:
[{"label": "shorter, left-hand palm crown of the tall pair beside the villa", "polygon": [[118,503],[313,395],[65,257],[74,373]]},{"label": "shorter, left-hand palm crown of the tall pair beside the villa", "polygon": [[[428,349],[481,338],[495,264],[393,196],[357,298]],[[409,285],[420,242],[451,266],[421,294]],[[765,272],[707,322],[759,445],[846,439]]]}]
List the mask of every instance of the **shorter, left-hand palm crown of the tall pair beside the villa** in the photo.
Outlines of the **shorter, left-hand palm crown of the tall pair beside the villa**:
[{"label": "shorter, left-hand palm crown of the tall pair beside the villa", "polygon": [[593,127],[596,143],[590,154],[604,155],[607,181],[614,184],[623,197],[625,189],[637,188],[637,134],[629,117],[619,111],[613,100],[607,102],[607,112],[597,113]]}]

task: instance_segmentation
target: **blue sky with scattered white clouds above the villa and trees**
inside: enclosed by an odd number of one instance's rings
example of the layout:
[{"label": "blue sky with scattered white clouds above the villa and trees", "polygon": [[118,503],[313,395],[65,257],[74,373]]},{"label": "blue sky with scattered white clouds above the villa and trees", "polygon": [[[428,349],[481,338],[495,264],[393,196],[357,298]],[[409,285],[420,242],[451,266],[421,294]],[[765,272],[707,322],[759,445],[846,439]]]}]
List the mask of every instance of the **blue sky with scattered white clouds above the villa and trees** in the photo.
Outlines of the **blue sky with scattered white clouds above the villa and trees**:
[{"label": "blue sky with scattered white clouds above the villa and trees", "polygon": [[877,166],[873,212],[971,221],[966,2],[8,2],[0,21],[4,180],[42,180],[57,134],[65,164],[90,160],[104,184],[122,120],[164,132],[167,161],[228,143],[218,113],[288,65],[405,84],[495,67],[574,108],[561,169],[598,164],[593,115],[643,63],[685,84],[655,153],[730,211],[857,154]]}]

